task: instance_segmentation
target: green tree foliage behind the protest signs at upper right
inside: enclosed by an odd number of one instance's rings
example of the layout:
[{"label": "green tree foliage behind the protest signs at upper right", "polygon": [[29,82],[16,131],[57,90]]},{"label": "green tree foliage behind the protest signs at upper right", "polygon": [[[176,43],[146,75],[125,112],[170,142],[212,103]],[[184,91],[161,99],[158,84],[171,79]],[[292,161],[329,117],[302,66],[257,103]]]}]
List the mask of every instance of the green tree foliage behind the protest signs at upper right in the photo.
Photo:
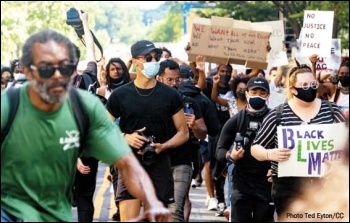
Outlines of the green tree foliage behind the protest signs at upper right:
[{"label": "green tree foliage behind the protest signs at upper right", "polygon": [[[200,1],[216,3],[226,10],[226,16],[251,22],[273,21],[283,13],[286,22],[299,36],[303,25],[304,10],[334,11],[333,38],[340,38],[342,49],[349,49],[349,1]],[[209,18],[217,15],[214,10],[198,10],[197,15]]]}]

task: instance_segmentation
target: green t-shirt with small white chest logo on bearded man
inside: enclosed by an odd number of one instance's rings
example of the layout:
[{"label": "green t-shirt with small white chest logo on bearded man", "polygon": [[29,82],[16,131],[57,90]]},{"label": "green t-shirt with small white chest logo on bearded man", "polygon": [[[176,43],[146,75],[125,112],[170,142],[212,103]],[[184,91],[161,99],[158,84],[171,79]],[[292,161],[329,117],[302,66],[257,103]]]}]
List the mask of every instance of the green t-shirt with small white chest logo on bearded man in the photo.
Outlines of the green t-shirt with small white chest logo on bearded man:
[{"label": "green t-shirt with small white chest logo on bearded man", "polygon": [[[43,112],[30,102],[27,87],[21,88],[16,117],[1,145],[1,208],[25,221],[73,221],[78,125],[68,100],[57,111]],[[112,164],[131,149],[99,99],[79,93],[90,122],[84,155]],[[1,129],[8,113],[8,97],[2,92]]]}]

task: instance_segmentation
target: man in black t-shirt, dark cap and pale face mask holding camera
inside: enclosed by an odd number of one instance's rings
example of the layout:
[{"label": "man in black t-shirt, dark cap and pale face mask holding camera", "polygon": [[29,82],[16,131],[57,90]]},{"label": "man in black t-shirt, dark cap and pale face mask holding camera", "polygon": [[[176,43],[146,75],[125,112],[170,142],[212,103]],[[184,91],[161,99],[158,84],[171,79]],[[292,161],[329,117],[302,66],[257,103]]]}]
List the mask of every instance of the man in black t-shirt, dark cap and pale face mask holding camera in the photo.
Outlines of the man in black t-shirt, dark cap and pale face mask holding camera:
[{"label": "man in black t-shirt, dark cap and pale face mask holding camera", "polygon": [[[147,40],[132,45],[136,79],[115,89],[106,108],[113,121],[120,118],[119,126],[126,141],[149,174],[158,199],[167,206],[174,202],[174,180],[168,150],[185,143],[189,133],[180,94],[155,79],[161,54],[162,50]],[[152,137],[154,142],[150,140]],[[147,145],[155,151],[151,162],[145,162],[146,157],[142,155]],[[120,221],[129,221],[139,215],[141,203],[128,192],[120,177],[117,201]]]}]

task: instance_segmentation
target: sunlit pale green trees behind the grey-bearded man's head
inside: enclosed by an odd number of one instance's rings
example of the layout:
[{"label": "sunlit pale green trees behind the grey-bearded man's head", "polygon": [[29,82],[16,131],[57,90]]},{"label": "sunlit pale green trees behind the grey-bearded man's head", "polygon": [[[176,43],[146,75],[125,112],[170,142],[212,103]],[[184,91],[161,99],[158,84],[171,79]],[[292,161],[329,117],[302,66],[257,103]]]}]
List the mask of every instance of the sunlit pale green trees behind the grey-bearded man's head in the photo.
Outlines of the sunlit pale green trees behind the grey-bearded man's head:
[{"label": "sunlit pale green trees behind the grey-bearded man's head", "polygon": [[[96,3],[76,2],[75,6],[92,12],[96,11]],[[74,29],[66,24],[66,12],[71,7],[73,2],[1,1],[1,61],[9,64],[10,60],[19,58],[24,41],[33,33],[46,28],[55,29],[77,42]],[[90,27],[93,27],[94,16],[89,17]]]}]

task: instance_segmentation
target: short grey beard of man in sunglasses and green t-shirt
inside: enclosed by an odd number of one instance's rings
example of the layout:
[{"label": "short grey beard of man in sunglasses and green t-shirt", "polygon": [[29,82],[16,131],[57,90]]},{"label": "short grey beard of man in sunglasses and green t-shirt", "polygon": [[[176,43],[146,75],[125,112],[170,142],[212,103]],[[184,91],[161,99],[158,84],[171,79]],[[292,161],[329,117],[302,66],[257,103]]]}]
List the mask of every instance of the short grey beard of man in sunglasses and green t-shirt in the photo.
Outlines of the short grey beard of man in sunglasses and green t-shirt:
[{"label": "short grey beard of man in sunglasses and green t-shirt", "polygon": [[[47,81],[46,83],[39,82],[33,78],[30,81],[30,85],[39,93],[40,98],[46,104],[62,103],[67,98],[67,92],[72,87],[72,80],[58,80],[55,82]],[[64,91],[52,90],[54,87],[63,87]],[[50,93],[50,90],[52,93]]]}]

